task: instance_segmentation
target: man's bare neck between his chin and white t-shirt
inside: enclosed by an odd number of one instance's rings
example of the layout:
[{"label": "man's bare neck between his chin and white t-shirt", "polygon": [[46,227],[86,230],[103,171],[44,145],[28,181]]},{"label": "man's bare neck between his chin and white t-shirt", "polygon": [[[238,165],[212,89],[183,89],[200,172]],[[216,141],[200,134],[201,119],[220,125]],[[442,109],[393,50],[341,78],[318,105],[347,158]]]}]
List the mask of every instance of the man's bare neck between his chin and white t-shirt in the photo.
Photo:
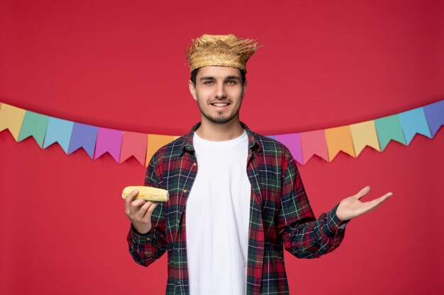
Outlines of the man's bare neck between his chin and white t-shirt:
[{"label": "man's bare neck between his chin and white t-shirt", "polygon": [[201,125],[196,129],[199,137],[211,141],[226,141],[240,137],[243,134],[243,127],[239,118],[235,117],[230,122],[216,124],[202,116]]}]

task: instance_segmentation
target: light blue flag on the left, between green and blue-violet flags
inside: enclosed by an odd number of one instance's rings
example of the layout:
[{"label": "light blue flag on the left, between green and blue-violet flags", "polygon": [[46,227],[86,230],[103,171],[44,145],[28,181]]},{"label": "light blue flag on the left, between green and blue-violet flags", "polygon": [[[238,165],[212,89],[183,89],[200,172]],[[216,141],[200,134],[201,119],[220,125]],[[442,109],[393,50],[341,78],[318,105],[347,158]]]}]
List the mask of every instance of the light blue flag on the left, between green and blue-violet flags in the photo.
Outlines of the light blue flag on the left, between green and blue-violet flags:
[{"label": "light blue flag on the left, between green and blue-violet flags", "polygon": [[70,149],[71,133],[74,122],[50,117],[48,129],[46,129],[45,142],[43,149],[57,142],[62,149],[68,154]]}]

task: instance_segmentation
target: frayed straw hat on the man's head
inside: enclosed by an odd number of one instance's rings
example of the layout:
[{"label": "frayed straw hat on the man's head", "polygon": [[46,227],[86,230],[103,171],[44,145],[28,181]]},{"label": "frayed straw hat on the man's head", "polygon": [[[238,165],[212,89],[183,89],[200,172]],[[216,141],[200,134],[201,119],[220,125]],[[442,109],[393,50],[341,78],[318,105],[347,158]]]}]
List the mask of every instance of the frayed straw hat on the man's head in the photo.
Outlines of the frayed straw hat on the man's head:
[{"label": "frayed straw hat on the man's head", "polygon": [[242,39],[233,34],[204,34],[192,41],[186,49],[190,71],[201,66],[231,66],[246,73],[245,63],[257,49],[257,39]]}]

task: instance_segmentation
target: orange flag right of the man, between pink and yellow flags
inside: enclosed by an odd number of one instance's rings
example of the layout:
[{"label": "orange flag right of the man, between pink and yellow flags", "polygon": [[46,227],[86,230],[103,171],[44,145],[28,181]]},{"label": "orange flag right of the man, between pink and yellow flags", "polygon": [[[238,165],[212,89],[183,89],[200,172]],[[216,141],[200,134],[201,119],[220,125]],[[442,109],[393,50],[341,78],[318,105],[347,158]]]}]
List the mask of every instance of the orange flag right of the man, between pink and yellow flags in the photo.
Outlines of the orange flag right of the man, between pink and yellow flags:
[{"label": "orange flag right of the man, between pink and yellow flags", "polygon": [[325,132],[330,161],[333,161],[333,158],[335,158],[339,151],[343,151],[356,158],[350,126],[328,128]]}]

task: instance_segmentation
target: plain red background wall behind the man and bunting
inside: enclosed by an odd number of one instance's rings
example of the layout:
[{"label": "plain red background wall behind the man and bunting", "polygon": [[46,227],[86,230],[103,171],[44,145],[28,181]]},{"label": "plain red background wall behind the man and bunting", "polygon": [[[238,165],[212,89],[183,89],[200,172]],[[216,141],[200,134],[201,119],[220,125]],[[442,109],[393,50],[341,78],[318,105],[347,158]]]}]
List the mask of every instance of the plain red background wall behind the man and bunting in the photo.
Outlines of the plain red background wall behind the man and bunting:
[{"label": "plain red background wall behind the man and bunting", "polygon": [[[0,101],[180,135],[200,120],[184,47],[258,38],[240,119],[262,134],[372,120],[444,96],[443,1],[0,1]],[[291,294],[444,292],[444,132],[299,166],[316,214],[365,185],[386,204],[317,260],[285,253]],[[164,294],[167,255],[128,253],[121,190],[145,168],[0,132],[0,294]],[[441,277],[441,279],[439,279]]]}]

